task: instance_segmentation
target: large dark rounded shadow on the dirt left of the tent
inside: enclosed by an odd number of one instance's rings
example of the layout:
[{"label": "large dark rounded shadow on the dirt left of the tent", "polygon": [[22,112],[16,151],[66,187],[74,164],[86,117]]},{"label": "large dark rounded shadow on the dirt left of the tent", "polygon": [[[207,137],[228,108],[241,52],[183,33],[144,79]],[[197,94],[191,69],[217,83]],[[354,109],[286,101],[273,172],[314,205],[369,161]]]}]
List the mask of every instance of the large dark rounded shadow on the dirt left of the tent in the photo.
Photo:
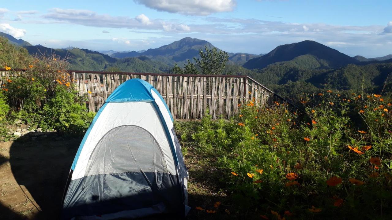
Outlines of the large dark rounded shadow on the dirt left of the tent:
[{"label": "large dark rounded shadow on the dirt left of the tent", "polygon": [[[36,219],[58,219],[69,169],[82,138],[33,133],[13,142],[9,163],[19,185],[40,207]],[[32,139],[33,138],[33,139]]]}]

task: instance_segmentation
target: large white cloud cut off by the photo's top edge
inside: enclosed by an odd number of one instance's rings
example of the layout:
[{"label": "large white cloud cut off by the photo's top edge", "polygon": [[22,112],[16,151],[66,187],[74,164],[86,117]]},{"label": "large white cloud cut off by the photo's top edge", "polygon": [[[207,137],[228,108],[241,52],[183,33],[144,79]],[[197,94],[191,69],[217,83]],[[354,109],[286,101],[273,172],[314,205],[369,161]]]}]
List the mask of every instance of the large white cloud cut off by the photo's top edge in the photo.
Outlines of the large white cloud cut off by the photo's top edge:
[{"label": "large white cloud cut off by the photo's top edge", "polygon": [[157,11],[203,16],[233,11],[237,6],[235,0],[134,0],[134,2]]}]

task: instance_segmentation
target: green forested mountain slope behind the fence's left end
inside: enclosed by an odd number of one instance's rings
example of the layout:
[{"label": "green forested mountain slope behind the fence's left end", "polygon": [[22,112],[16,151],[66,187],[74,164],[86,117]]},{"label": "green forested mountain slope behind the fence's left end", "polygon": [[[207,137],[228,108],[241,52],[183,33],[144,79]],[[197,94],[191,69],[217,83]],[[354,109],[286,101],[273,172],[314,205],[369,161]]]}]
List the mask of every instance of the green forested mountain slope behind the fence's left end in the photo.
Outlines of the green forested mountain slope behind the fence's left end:
[{"label": "green forested mountain slope behind the fence's left end", "polygon": [[42,46],[25,46],[29,54],[52,56],[55,54],[61,58],[68,58],[70,61],[69,69],[101,71],[107,65],[115,63],[116,59],[97,51],[87,49],[52,49]]}]

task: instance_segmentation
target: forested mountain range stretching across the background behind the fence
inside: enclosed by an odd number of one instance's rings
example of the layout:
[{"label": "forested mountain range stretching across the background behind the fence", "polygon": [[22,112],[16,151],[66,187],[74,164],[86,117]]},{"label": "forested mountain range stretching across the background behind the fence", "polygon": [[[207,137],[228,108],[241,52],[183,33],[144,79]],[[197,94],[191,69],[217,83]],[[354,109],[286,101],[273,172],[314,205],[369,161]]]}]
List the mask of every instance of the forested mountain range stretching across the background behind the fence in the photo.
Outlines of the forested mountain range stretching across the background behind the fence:
[{"label": "forested mountain range stretching across the background behind the fence", "polygon": [[[123,72],[170,72],[199,58],[199,50],[214,45],[205,40],[183,38],[156,49],[141,51],[92,51],[67,47],[51,49],[32,46],[8,34],[10,43],[25,47],[30,54],[56,54],[69,58],[70,69]],[[218,48],[217,48],[218,49]],[[326,85],[339,90],[381,90],[392,72],[392,55],[378,58],[350,57],[316,41],[280,45],[267,54],[228,53],[224,74],[249,75],[282,95],[316,92]],[[389,85],[389,84],[388,84]],[[390,85],[392,90],[392,83]]]}]

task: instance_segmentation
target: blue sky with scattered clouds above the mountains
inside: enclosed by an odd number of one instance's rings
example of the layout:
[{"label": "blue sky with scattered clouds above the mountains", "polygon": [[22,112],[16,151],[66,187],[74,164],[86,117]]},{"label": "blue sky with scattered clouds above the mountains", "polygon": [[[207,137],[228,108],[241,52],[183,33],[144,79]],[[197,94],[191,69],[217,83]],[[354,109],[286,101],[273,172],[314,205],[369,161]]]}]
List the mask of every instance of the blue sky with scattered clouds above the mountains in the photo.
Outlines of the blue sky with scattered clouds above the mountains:
[{"label": "blue sky with scattered clouds above the mountains", "polygon": [[97,51],[191,37],[260,54],[314,40],[372,58],[392,54],[391,9],[391,0],[13,0],[0,4],[0,31],[33,45]]}]

